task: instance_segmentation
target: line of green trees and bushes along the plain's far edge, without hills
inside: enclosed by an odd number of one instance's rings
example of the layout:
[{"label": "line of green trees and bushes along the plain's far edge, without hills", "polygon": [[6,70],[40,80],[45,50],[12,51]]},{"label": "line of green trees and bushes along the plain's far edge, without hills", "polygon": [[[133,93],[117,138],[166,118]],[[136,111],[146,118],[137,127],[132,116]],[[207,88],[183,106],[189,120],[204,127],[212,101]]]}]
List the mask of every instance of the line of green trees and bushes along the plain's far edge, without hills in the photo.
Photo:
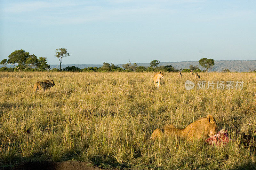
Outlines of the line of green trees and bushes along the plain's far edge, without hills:
[{"label": "line of green trees and bushes along the plain's far edge, without hills", "polygon": [[[64,68],[63,70],[61,69],[61,63],[62,63],[62,58],[68,57],[69,53],[67,49],[65,48],[60,48],[56,49],[56,55],[60,61],[60,69],[58,68],[53,68],[50,70],[50,65],[47,64],[47,59],[46,57],[39,57],[37,58],[35,54],[29,54],[29,52],[26,52],[25,50],[15,50],[12,52],[9,56],[8,59],[3,59],[1,61],[1,65],[3,67],[0,68],[0,71],[28,71],[28,72],[33,72],[33,71],[49,71],[49,72],[59,72],[59,71],[67,71],[67,72],[157,72],[157,71],[165,71],[165,72],[189,72],[189,70],[192,70],[194,72],[202,72],[198,66],[193,66],[190,65],[189,69],[184,68],[184,69],[175,69],[171,65],[169,66],[158,66],[160,61],[159,60],[152,60],[150,62],[149,67],[145,66],[137,66],[136,63],[129,63],[123,64],[122,67],[118,67],[114,65],[113,63],[103,63],[102,67],[85,67],[84,69],[80,69],[75,66],[68,66]],[[199,65],[205,68],[205,71],[208,71],[208,69],[211,69],[212,66],[214,66],[214,60],[209,58],[202,58],[198,61]],[[7,64],[15,66],[14,68],[8,68],[6,67]]]}]

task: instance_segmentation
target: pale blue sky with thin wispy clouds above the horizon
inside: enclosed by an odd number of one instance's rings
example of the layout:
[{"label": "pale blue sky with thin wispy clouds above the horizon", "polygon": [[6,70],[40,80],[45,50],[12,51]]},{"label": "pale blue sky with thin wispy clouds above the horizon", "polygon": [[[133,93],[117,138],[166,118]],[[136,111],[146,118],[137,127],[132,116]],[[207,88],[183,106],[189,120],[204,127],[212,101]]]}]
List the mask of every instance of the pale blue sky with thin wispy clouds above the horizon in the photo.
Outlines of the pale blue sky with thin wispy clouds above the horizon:
[{"label": "pale blue sky with thin wispy clouds above the horizon", "polygon": [[256,1],[0,0],[0,61],[23,49],[59,64],[256,59]]}]

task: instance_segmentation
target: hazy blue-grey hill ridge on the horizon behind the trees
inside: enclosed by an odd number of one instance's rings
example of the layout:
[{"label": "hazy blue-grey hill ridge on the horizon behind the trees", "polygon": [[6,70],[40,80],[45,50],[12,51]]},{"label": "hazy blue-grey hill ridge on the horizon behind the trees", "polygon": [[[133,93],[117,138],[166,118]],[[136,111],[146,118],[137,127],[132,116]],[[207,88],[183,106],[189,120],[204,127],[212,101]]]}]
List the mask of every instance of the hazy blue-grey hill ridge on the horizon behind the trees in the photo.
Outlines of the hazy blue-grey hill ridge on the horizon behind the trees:
[{"label": "hazy blue-grey hill ridge on the horizon behind the trees", "polygon": [[[212,70],[209,71],[216,71],[221,72],[224,69],[229,69],[232,72],[248,72],[249,69],[255,70],[256,69],[256,60],[220,60],[214,61],[215,65],[213,66]],[[110,64],[110,63],[109,63]],[[125,63],[124,63],[125,64]],[[132,63],[133,64],[133,63]],[[123,64],[116,64],[118,67],[122,67]],[[138,66],[150,66],[149,63],[137,63]],[[160,62],[158,66],[168,66],[172,65],[175,69],[181,68],[189,68],[190,65],[199,66],[198,61],[177,61],[177,62]],[[60,65],[50,65],[52,68],[60,68]],[[62,64],[61,68],[65,68],[68,66],[76,66],[80,69],[84,69],[84,67],[101,67],[102,64]],[[201,70],[204,70],[201,66],[199,66]]]}]

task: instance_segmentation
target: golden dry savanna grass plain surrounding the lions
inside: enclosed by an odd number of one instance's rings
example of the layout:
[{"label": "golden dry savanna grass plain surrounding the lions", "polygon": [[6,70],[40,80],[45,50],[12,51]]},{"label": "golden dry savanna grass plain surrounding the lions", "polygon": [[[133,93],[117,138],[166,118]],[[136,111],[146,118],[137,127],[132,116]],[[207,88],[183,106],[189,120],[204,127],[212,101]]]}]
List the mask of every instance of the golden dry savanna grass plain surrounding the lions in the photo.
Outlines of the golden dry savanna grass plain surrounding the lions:
[{"label": "golden dry savanna grass plain surrounding the lions", "polygon": [[[256,73],[199,73],[200,81],[244,81],[243,89],[196,89],[189,73],[0,73],[0,166],[20,161],[90,162],[121,169],[254,169]],[[33,93],[36,81],[49,91]],[[185,89],[191,80],[195,88]],[[216,86],[215,86],[216,87]],[[207,85],[206,85],[207,88]],[[185,128],[211,114],[227,129],[225,146],[170,138],[151,141],[156,128]]]}]

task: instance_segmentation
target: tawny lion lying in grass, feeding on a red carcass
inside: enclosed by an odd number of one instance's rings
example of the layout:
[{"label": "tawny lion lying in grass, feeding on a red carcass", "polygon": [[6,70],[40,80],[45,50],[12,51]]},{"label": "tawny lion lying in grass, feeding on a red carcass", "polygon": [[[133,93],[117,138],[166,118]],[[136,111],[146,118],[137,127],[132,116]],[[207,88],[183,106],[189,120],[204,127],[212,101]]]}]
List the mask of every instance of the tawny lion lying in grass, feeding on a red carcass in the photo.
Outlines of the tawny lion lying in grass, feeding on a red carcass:
[{"label": "tawny lion lying in grass, feeding on a red carcass", "polygon": [[184,129],[178,129],[174,125],[165,126],[162,129],[157,128],[151,135],[151,139],[162,139],[163,137],[180,137],[188,142],[196,140],[206,140],[209,137],[217,134],[217,124],[212,115],[200,118],[193,123],[190,123]]}]

